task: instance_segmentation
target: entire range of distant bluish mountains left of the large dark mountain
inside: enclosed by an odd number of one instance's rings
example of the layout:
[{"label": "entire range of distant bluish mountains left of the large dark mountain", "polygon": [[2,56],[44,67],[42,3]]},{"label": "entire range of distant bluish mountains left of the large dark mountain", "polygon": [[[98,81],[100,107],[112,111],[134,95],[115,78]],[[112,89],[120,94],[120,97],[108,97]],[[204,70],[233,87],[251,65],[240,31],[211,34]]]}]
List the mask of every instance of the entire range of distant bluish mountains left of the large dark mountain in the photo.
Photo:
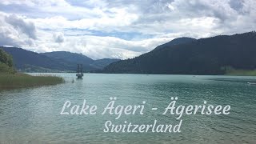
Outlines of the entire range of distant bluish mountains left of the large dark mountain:
[{"label": "entire range of distant bluish mountains left of the large dark mountain", "polygon": [[5,50],[14,59],[14,66],[17,70],[26,72],[58,72],[58,71],[75,71],[78,63],[83,64],[85,71],[102,69],[110,62],[116,62],[119,59],[112,61],[102,59],[93,60],[82,54],[70,52],[50,52],[46,54],[38,54],[30,50],[24,50],[17,47],[4,47]]}]

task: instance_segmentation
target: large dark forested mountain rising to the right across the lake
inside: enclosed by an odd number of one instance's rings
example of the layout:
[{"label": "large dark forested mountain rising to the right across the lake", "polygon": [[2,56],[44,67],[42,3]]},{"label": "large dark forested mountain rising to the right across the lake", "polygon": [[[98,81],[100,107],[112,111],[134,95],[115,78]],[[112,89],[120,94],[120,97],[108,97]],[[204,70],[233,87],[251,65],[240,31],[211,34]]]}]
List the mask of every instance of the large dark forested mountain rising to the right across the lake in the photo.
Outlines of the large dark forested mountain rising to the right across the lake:
[{"label": "large dark forested mountain rising to the right across the lake", "polygon": [[[172,42],[168,42],[172,43]],[[106,66],[103,73],[224,74],[256,68],[256,32],[165,44],[136,58]]]}]

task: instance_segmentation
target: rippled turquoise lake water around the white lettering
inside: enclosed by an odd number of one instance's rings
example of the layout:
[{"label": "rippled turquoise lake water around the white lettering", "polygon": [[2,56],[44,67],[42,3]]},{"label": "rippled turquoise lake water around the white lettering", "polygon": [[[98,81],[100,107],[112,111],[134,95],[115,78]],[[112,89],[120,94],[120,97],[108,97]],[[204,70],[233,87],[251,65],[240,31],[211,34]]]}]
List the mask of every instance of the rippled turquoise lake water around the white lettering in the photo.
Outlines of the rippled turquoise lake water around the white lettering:
[{"label": "rippled turquoise lake water around the white lettering", "polygon": [[[256,77],[151,74],[54,74],[64,84],[0,91],[0,143],[256,143]],[[72,80],[74,79],[74,82]],[[142,105],[144,114],[102,115],[115,105]],[[228,115],[183,115],[180,133],[104,133],[105,122],[177,124],[162,112],[177,105],[230,105]],[[95,115],[61,115],[64,102],[98,106]],[[157,107],[158,110],[151,110]]]}]

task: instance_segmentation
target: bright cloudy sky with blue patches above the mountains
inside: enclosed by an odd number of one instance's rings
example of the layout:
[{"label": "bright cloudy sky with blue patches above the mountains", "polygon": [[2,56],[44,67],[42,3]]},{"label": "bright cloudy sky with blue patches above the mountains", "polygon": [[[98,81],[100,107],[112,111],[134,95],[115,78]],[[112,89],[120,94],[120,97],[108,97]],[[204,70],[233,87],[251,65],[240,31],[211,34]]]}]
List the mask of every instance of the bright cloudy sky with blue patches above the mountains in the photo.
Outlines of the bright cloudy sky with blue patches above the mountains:
[{"label": "bright cloudy sky with blue patches above the mountains", "polygon": [[256,30],[256,0],[0,0],[0,46],[133,58],[178,37]]}]

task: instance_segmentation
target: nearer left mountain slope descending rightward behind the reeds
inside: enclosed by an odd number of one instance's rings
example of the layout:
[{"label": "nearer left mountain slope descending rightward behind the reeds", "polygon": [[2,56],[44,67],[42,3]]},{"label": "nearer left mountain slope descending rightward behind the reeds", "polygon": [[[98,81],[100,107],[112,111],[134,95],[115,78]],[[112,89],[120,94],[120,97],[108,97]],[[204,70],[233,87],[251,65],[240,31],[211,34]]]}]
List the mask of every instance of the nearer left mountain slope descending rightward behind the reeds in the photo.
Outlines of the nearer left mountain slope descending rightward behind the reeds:
[{"label": "nearer left mountain slope descending rightward behind the reeds", "polygon": [[3,47],[14,59],[14,66],[18,70],[34,71],[41,69],[42,71],[59,71],[59,70],[76,70],[76,65],[70,62],[63,62],[58,59],[49,58],[45,55],[34,53],[17,47]]}]

